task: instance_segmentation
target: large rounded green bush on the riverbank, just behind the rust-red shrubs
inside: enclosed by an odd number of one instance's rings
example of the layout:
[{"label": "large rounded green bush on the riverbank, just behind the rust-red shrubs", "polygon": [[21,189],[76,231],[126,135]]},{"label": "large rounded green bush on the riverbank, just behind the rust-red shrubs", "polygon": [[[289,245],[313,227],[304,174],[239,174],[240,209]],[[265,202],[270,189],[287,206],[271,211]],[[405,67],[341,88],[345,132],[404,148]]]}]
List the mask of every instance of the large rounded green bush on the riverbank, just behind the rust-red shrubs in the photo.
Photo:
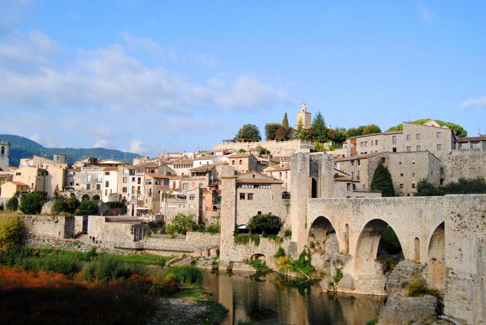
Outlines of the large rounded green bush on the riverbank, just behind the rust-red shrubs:
[{"label": "large rounded green bush on the riverbank, just behind the rust-red shrubs", "polygon": [[126,275],[125,263],[119,256],[100,255],[97,260],[85,264],[81,277],[86,281],[108,282]]}]

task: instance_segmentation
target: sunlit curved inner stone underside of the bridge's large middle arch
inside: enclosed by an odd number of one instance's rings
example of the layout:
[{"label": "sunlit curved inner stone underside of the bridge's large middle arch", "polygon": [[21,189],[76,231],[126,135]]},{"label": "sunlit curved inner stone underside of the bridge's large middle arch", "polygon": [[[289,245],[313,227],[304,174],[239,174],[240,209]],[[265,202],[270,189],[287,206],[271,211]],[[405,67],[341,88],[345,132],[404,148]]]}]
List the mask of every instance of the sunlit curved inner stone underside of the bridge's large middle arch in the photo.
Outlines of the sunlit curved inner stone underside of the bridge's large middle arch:
[{"label": "sunlit curved inner stone underside of the bridge's large middle arch", "polygon": [[[355,251],[355,270],[358,274],[366,276],[382,276],[383,269],[376,262],[378,246],[388,222],[382,219],[372,219],[368,221],[359,233]],[[393,229],[393,226],[390,225]],[[395,231],[393,229],[393,231]],[[400,247],[403,247],[403,240],[395,231]]]}]

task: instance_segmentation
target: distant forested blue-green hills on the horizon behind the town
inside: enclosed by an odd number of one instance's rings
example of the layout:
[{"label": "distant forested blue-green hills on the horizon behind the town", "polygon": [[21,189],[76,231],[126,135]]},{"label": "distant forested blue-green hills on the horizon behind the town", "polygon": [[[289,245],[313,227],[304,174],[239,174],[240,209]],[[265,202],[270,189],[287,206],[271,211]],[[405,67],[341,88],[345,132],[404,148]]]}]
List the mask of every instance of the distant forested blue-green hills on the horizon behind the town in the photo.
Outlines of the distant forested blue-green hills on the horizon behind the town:
[{"label": "distant forested blue-green hills on the horizon behind the town", "polygon": [[99,159],[116,159],[129,163],[132,163],[133,158],[140,157],[140,155],[131,152],[105,148],[45,148],[26,137],[13,134],[0,134],[1,140],[10,142],[9,157],[12,166],[18,166],[20,158],[30,158],[32,155],[37,155],[52,159],[53,155],[57,153],[66,154],[70,163],[88,156]]}]

